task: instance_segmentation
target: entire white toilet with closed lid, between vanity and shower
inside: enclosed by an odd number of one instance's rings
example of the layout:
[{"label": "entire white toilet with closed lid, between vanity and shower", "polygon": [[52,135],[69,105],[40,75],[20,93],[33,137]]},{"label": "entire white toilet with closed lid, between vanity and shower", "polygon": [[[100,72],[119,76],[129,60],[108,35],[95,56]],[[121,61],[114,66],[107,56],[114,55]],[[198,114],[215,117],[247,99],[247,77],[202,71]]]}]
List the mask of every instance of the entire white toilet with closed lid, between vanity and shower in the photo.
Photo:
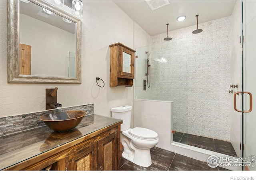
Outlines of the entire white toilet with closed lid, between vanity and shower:
[{"label": "entire white toilet with closed lid, between vanity and shower", "polygon": [[111,109],[112,118],[122,119],[121,124],[123,158],[142,167],[152,164],[150,148],[158,143],[158,134],[146,128],[130,128],[132,106],[120,106]]}]

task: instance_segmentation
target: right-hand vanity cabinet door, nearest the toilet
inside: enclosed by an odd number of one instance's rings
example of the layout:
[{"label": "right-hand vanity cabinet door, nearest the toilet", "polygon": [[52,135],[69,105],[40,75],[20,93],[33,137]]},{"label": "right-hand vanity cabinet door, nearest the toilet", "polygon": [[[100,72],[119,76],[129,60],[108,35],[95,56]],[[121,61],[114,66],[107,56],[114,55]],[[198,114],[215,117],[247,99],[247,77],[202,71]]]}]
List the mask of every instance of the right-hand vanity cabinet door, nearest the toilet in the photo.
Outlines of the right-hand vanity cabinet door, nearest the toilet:
[{"label": "right-hand vanity cabinet door, nearest the toilet", "polygon": [[118,132],[99,140],[98,142],[98,170],[118,170]]}]

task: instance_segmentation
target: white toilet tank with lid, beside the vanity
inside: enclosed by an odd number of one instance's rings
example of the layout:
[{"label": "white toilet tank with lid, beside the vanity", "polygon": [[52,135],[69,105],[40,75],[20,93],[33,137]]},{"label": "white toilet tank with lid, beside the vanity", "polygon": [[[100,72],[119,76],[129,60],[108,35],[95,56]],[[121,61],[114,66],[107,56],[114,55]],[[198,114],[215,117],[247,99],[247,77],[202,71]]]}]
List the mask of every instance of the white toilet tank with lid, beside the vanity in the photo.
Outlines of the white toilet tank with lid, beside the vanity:
[{"label": "white toilet tank with lid, beside the vanity", "polygon": [[119,106],[116,108],[111,108],[112,118],[122,119],[123,124],[121,124],[121,131],[130,128],[131,116],[132,116],[132,106]]}]

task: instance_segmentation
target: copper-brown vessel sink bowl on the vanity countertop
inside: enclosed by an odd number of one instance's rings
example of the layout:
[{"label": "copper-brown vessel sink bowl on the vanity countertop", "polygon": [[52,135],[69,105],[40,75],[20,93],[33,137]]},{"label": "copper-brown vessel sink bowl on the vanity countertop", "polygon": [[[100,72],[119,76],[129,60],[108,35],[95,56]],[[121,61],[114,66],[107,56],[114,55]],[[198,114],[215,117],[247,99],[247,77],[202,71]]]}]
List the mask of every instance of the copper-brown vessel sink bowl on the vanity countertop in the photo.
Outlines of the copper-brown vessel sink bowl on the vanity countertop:
[{"label": "copper-brown vessel sink bowl on the vanity countertop", "polygon": [[58,132],[65,132],[74,129],[86,115],[85,111],[70,110],[52,112],[40,116],[40,120],[50,129]]}]

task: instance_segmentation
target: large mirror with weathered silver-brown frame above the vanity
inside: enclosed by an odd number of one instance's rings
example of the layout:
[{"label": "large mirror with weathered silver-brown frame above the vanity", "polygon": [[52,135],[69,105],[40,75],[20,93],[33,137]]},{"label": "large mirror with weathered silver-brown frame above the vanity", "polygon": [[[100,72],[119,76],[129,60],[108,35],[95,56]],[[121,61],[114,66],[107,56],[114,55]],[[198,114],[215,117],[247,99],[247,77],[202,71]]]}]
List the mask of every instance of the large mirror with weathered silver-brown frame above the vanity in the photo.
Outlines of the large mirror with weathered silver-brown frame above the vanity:
[{"label": "large mirror with weathered silver-brown frame above the vanity", "polygon": [[80,84],[81,20],[46,1],[9,0],[10,82]]}]

